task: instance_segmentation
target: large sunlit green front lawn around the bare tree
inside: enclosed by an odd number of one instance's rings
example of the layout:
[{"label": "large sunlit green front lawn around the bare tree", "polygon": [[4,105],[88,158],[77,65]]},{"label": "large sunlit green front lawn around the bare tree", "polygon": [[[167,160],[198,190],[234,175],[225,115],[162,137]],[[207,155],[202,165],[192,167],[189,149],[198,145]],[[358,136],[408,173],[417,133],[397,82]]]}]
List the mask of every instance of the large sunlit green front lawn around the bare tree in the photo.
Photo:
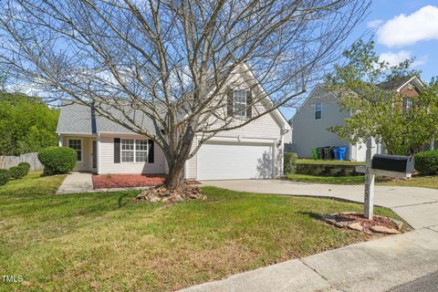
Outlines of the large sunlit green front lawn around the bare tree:
[{"label": "large sunlit green front lawn around the bare tree", "polygon": [[318,220],[358,203],[214,187],[206,201],[136,203],[134,191],[54,195],[62,179],[0,187],[1,273],[25,279],[0,290],[174,290],[367,239]]}]

